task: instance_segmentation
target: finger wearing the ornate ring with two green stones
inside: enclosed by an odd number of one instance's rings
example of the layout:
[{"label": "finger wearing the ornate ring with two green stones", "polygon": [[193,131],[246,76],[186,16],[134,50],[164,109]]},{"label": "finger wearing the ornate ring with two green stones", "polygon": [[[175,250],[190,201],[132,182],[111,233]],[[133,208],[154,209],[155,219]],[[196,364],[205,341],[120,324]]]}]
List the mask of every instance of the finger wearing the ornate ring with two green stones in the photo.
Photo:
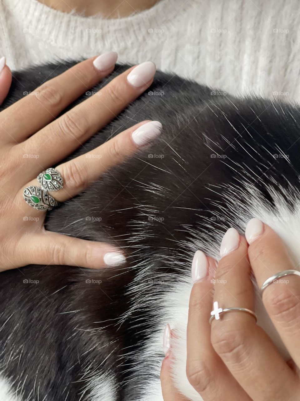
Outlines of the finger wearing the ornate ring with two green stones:
[{"label": "finger wearing the ornate ring with two green stones", "polygon": [[[108,142],[79,156],[69,162],[57,166],[64,179],[64,187],[58,192],[49,193],[57,201],[66,201],[86,186],[95,181],[108,169],[131,156],[138,146],[154,140],[161,132],[162,124],[158,121],[136,124]],[[37,180],[30,185],[37,185]]]}]

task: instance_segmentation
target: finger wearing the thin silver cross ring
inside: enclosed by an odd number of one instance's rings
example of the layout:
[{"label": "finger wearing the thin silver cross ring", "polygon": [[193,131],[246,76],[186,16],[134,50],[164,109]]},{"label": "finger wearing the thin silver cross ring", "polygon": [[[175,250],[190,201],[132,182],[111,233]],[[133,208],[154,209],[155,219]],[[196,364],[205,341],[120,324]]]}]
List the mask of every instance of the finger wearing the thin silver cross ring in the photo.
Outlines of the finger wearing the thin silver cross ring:
[{"label": "finger wearing the thin silver cross ring", "polygon": [[[214,302],[220,308],[254,310],[246,240],[229,229],[222,240]],[[212,345],[248,395],[256,401],[299,399],[299,380],[278,350],[246,312],[230,311],[212,321]],[[268,391],[264,391],[268,389]]]}]

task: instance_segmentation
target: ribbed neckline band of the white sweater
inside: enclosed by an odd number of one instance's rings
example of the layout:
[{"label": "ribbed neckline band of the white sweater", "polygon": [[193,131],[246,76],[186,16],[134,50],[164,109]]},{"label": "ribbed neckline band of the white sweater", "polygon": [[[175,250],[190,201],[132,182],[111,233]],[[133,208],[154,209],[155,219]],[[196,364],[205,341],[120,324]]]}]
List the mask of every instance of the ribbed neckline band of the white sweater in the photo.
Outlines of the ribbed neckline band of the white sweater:
[{"label": "ribbed neckline band of the white sweater", "polygon": [[[54,10],[37,0],[11,0],[14,14],[22,15],[24,30],[38,36],[52,45],[68,48],[74,43],[81,43],[89,48],[101,48],[108,35],[120,36],[124,44],[130,26],[130,34],[137,43],[142,30],[161,29],[161,26],[174,26],[182,0],[160,0],[154,6],[142,12],[136,12],[124,18],[107,19],[102,16],[80,16],[75,12],[66,13]],[[141,25],[141,22],[142,25]],[[89,34],[91,33],[91,34]],[[96,33],[96,34],[95,34]],[[79,42],[78,42],[79,41]]]}]

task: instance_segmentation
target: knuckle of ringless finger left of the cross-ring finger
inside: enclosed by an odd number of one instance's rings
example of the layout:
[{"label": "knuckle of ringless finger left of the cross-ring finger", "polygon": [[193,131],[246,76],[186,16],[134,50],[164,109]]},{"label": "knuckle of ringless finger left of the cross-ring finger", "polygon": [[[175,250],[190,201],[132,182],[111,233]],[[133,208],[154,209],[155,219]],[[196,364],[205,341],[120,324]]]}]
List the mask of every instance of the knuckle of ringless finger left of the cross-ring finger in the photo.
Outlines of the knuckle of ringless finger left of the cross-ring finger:
[{"label": "knuckle of ringless finger left of the cross-ring finger", "polygon": [[212,383],[212,374],[208,366],[200,360],[188,360],[186,364],[186,376],[189,383],[203,393]]}]

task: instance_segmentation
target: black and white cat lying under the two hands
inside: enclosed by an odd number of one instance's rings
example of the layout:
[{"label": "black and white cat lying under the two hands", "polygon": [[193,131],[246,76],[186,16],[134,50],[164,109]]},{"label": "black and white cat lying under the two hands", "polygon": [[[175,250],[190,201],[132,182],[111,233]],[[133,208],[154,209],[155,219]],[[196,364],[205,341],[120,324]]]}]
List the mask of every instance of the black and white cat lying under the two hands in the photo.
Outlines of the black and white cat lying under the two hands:
[{"label": "black and white cat lying under the two hands", "polygon": [[[73,64],[14,73],[2,107]],[[46,221],[47,229],[122,247],[126,265],[0,274],[0,401],[162,401],[166,323],[177,334],[176,385],[202,400],[185,373],[194,252],[218,258],[226,229],[243,233],[257,217],[300,261],[298,106],[238,99],[158,72],[148,93],[71,157],[144,119],[162,122],[160,138]],[[279,344],[257,301],[259,323]]]}]

